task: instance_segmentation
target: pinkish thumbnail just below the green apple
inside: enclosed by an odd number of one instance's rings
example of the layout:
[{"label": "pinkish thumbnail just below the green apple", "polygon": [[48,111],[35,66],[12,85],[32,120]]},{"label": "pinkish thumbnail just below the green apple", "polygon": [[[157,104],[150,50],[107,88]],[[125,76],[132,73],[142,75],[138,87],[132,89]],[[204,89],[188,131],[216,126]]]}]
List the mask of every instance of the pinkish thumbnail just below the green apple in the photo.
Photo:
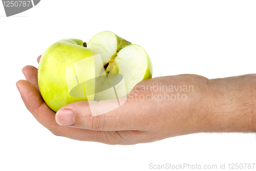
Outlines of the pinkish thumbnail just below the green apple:
[{"label": "pinkish thumbnail just below the green apple", "polygon": [[73,125],[75,124],[74,112],[69,109],[59,110],[55,120],[59,125]]}]

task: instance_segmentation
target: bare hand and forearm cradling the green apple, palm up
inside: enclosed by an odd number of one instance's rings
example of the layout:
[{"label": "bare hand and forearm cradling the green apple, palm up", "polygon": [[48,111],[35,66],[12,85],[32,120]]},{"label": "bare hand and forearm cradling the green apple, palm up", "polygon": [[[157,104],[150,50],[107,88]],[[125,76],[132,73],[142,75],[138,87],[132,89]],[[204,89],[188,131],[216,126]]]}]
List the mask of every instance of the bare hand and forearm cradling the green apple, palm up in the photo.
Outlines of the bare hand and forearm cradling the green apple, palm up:
[{"label": "bare hand and forearm cradling the green apple, palm up", "polygon": [[[146,79],[128,94],[122,106],[92,117],[88,101],[63,106],[56,115],[40,95],[37,69],[26,66],[23,73],[26,80],[19,80],[16,85],[27,109],[57,136],[106,144],[136,144],[193,133],[256,132],[256,74],[219,79],[193,74]],[[173,87],[193,86],[194,90],[148,88],[157,83]],[[176,95],[176,100],[152,99],[154,95],[166,94],[169,97]],[[182,95],[186,100],[181,99]],[[140,100],[139,97],[150,100]],[[69,123],[67,115],[61,114],[65,109],[74,112],[73,125],[63,125]]]}]

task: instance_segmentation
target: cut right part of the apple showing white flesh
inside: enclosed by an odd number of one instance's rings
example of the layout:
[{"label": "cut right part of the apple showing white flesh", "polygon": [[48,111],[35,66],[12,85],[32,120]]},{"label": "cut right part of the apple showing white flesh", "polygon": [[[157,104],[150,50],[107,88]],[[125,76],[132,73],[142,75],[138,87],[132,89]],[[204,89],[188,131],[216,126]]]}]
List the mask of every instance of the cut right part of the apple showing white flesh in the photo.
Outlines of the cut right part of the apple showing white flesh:
[{"label": "cut right part of the apple showing white flesh", "polygon": [[152,62],[145,50],[113,32],[104,31],[95,35],[87,47],[94,55],[100,54],[106,74],[123,76],[127,94],[138,82],[152,77]]}]

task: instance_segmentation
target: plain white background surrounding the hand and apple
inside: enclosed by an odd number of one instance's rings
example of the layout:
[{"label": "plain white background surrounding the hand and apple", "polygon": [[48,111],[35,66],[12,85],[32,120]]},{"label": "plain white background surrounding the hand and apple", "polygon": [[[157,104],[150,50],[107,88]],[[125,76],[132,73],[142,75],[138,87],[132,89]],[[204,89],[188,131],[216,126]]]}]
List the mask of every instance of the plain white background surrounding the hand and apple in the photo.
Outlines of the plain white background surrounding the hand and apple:
[{"label": "plain white background surrounding the hand and apple", "polygon": [[[0,170],[152,170],[149,164],[255,163],[254,134],[195,134],[106,145],[56,137],[26,109],[22,68],[63,38],[113,31],[151,56],[153,77],[255,73],[255,1],[50,1],[6,17],[0,4]],[[256,169],[256,166],[254,166]]]}]

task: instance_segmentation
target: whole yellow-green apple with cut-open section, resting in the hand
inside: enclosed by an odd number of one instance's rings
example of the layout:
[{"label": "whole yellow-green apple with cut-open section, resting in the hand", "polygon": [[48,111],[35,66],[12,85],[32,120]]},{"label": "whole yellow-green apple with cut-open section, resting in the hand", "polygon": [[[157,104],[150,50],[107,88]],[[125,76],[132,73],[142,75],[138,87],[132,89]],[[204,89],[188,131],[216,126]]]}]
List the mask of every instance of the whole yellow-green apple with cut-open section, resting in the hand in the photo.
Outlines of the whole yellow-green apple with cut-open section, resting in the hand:
[{"label": "whole yellow-green apple with cut-open section, resting in the hand", "polygon": [[144,49],[110,31],[94,36],[88,46],[80,39],[56,41],[38,67],[40,93],[55,112],[75,101],[118,99],[151,77],[152,63]]}]

